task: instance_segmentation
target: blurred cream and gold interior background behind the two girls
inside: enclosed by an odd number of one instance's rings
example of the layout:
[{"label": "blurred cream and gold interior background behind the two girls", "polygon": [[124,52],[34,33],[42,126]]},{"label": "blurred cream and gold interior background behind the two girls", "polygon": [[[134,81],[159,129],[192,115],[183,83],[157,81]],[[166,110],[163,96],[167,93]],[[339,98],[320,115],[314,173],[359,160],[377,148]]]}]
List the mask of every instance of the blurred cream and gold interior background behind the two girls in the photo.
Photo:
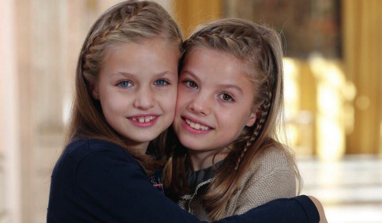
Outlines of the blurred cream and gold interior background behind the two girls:
[{"label": "blurred cream and gold interior background behind the two girls", "polygon": [[[329,222],[382,222],[382,0],[157,1],[185,37],[223,17],[280,32],[302,193],[323,203]],[[77,56],[116,2],[0,1],[0,223],[46,221]]]}]

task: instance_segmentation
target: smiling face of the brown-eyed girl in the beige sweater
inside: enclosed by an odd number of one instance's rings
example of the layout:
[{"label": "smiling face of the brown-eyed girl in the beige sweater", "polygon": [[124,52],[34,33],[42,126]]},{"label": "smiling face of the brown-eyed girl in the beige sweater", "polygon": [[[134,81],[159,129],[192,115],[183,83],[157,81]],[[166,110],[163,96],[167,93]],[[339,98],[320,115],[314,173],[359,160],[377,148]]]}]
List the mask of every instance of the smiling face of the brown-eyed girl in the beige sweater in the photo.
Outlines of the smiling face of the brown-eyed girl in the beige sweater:
[{"label": "smiling face of the brown-eyed girl in the beige sweater", "polygon": [[253,83],[243,66],[235,56],[204,47],[187,57],[179,76],[173,127],[189,150],[222,149],[245,126],[254,125]]}]

